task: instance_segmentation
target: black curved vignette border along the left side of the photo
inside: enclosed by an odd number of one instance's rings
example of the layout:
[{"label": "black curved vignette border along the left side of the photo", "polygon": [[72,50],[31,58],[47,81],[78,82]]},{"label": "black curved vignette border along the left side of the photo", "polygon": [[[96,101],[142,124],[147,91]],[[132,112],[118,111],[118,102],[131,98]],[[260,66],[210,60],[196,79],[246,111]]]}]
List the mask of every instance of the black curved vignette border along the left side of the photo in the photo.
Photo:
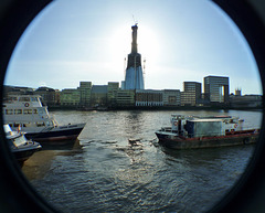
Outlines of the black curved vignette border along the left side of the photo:
[{"label": "black curved vignette border along the left side of the photo", "polygon": [[[9,60],[25,28],[51,0],[0,1],[0,104]],[[0,212],[56,212],[36,193],[14,161],[3,131],[0,113]]]}]

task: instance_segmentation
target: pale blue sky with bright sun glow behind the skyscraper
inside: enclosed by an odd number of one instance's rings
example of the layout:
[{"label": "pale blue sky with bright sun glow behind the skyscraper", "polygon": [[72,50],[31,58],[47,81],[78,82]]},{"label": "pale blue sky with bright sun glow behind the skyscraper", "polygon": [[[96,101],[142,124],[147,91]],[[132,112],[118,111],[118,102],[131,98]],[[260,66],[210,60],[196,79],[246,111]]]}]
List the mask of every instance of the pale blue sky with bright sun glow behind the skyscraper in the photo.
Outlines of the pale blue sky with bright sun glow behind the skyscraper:
[{"label": "pale blue sky with bright sun glow behind the skyscraper", "polygon": [[136,22],[146,89],[183,90],[183,82],[203,88],[203,77],[218,75],[230,77],[230,93],[262,94],[245,38],[209,0],[53,1],[22,34],[4,84],[63,89],[84,81],[120,83]]}]

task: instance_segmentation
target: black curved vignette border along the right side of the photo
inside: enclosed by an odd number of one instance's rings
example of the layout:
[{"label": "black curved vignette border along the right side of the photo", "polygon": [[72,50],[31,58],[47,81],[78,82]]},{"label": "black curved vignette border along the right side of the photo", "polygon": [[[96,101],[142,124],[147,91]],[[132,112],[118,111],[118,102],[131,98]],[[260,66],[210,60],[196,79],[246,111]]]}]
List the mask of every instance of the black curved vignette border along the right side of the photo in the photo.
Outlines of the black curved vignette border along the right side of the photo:
[{"label": "black curved vignette border along the right side of the photo", "polygon": [[[265,79],[265,4],[262,1],[214,0],[240,28],[256,60],[264,90]],[[257,8],[258,7],[258,8]],[[265,212],[265,146],[263,120],[258,142],[248,167],[232,190],[210,212]]]}]

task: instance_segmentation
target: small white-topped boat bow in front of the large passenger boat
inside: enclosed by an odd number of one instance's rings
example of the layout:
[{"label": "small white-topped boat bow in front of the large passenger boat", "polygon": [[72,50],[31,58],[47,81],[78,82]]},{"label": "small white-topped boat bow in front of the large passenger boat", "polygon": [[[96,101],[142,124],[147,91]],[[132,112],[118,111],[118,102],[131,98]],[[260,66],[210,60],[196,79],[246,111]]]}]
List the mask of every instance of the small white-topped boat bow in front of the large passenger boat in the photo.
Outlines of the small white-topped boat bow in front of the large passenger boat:
[{"label": "small white-topped boat bow in front of the large passenger boat", "polygon": [[3,125],[6,138],[9,142],[10,149],[13,152],[19,163],[23,164],[35,151],[42,149],[39,142],[28,140],[24,132],[12,131],[9,125]]}]

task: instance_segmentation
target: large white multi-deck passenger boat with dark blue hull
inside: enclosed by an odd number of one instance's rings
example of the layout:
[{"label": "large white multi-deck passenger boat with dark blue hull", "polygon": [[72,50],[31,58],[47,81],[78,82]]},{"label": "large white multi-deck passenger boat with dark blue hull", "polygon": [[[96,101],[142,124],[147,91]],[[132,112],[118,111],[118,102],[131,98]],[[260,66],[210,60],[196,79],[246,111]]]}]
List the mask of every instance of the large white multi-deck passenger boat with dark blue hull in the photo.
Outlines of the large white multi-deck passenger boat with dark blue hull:
[{"label": "large white multi-deck passenger boat with dark blue hull", "polygon": [[25,132],[28,139],[45,143],[75,141],[86,124],[59,125],[39,95],[9,95],[3,107],[4,124]]}]

